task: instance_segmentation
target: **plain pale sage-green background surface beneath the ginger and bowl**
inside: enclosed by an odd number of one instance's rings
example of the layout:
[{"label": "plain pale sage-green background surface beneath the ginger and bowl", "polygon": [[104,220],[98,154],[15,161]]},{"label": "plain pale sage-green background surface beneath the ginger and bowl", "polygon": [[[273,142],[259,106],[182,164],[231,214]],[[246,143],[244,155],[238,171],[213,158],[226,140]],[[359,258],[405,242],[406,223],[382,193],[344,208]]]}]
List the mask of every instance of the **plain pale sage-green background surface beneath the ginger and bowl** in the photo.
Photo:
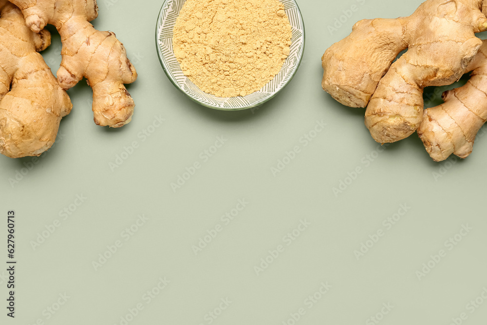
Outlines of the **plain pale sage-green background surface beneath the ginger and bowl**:
[{"label": "plain pale sage-green background surface beneath the ginger and bowl", "polygon": [[[74,109],[53,150],[35,166],[31,158],[0,157],[0,264],[7,259],[12,209],[19,261],[17,317],[7,318],[3,308],[0,324],[120,325],[138,304],[143,309],[128,324],[291,325],[304,311],[296,324],[369,325],[376,324],[370,317],[388,311],[383,304],[393,308],[380,324],[447,325],[463,312],[462,324],[485,324],[487,301],[468,304],[487,287],[487,137],[455,164],[434,163],[416,135],[376,156],[364,111],[341,106],[320,87],[321,55],[357,20],[407,16],[420,0],[300,0],[307,33],[300,71],[279,96],[242,112],[198,106],[169,82],[154,44],[161,2],[99,1],[95,26],[116,33],[139,73],[129,87],[137,105],[129,125],[94,125],[91,90],[82,82],[69,92]],[[354,4],[358,11],[330,35],[327,26]],[[45,53],[53,71],[59,45],[56,36]],[[155,116],[164,122],[152,128]],[[326,126],[305,146],[303,136],[317,121]],[[224,145],[205,158],[217,137]],[[128,159],[111,168],[134,141]],[[271,168],[295,146],[300,152],[274,176]],[[171,183],[195,163],[201,168],[173,191]],[[25,166],[33,168],[11,186]],[[332,189],[349,182],[357,167],[363,172],[336,196]],[[78,207],[76,195],[85,197]],[[248,204],[237,214],[239,200]],[[404,212],[401,205],[407,213],[394,225],[384,223]],[[63,209],[74,212],[64,220]],[[234,220],[222,219],[226,212]],[[133,226],[138,215],[148,220]],[[33,249],[32,241],[56,220],[60,226]],[[457,237],[461,242],[445,243],[462,225],[471,230]],[[131,226],[138,229],[128,235]],[[284,238],[298,227],[296,240]],[[195,255],[193,245],[212,229],[221,232]],[[383,236],[357,260],[354,251],[377,231]],[[93,261],[116,241],[121,247],[95,270]],[[257,274],[261,258],[278,248],[279,256]],[[446,256],[418,279],[416,271],[441,249]],[[170,281],[163,289],[160,278]],[[4,306],[7,288],[0,281]],[[320,288],[328,291],[316,293]],[[148,290],[159,294],[149,301]],[[315,293],[322,296],[316,303],[308,299]],[[53,315],[47,308],[63,302],[59,294],[70,298]],[[219,306],[225,310],[211,319]]]}]

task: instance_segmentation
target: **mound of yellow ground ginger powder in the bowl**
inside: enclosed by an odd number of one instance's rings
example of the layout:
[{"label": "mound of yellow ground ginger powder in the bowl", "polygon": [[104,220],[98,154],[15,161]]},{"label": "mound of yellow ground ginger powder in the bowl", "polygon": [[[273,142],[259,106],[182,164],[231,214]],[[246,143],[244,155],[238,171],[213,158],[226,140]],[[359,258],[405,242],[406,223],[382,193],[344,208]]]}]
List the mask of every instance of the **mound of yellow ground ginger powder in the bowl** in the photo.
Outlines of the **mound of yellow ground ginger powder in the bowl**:
[{"label": "mound of yellow ground ginger powder in the bowl", "polygon": [[173,50],[183,73],[204,92],[246,96],[279,73],[291,34],[278,0],[187,0]]}]

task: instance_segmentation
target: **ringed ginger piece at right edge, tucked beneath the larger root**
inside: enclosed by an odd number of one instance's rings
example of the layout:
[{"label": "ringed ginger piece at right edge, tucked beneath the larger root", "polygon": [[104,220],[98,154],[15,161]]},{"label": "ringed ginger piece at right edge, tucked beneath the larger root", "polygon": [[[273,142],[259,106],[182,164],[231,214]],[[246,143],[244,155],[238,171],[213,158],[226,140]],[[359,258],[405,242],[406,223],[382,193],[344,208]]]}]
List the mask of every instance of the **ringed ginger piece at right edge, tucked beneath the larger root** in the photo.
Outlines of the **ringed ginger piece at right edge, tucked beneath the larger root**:
[{"label": "ringed ginger piece at right edge, tucked beneath the larger root", "polygon": [[487,41],[468,65],[473,71],[460,88],[443,93],[444,103],[424,110],[418,135],[435,161],[454,153],[466,158],[475,136],[487,120]]}]

